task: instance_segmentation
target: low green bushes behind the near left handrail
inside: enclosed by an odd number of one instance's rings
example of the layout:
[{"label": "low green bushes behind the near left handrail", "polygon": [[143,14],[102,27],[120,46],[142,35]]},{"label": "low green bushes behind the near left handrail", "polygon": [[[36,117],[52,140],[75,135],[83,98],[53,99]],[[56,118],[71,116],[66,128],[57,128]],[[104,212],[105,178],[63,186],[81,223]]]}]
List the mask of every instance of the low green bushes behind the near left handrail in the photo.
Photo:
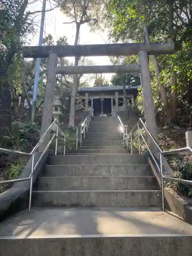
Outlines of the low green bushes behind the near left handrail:
[{"label": "low green bushes behind the near left handrail", "polygon": [[[12,133],[1,136],[0,146],[10,150],[30,152],[38,141],[39,130],[39,126],[36,123],[14,121],[12,123]],[[18,154],[0,154],[0,179],[16,179],[28,159],[28,156],[20,156]],[[11,184],[0,186],[0,193],[10,186]]]}]

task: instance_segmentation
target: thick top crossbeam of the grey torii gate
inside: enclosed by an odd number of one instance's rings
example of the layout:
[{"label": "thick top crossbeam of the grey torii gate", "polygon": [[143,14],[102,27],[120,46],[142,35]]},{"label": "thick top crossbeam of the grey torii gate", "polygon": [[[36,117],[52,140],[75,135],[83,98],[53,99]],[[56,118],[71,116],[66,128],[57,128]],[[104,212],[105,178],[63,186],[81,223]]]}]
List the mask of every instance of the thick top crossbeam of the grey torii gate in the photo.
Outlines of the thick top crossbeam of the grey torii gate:
[{"label": "thick top crossbeam of the grey torii gate", "polygon": [[106,44],[78,46],[28,46],[21,49],[25,58],[48,58],[51,52],[58,57],[73,56],[126,56],[146,51],[150,55],[173,54],[174,43]]}]

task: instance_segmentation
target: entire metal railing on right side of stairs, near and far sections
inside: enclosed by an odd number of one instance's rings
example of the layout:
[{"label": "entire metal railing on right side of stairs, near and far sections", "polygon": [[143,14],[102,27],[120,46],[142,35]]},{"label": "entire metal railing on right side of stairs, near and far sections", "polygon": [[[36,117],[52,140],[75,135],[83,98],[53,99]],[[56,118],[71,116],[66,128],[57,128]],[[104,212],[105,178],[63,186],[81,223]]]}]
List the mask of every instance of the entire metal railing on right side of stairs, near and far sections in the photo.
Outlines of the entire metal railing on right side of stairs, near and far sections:
[{"label": "entire metal railing on right side of stairs, near and far sections", "polygon": [[[185,180],[185,179],[179,179],[179,178],[174,178],[172,176],[165,176],[163,175],[163,161],[162,161],[162,156],[164,155],[168,155],[168,154],[173,154],[173,153],[179,153],[179,152],[183,152],[183,151],[190,151],[192,153],[192,148],[191,147],[182,147],[182,148],[178,148],[176,150],[168,150],[168,151],[162,151],[161,147],[159,146],[159,144],[157,143],[157,141],[154,139],[154,137],[152,136],[151,132],[148,130],[146,124],[143,122],[143,120],[141,118],[139,118],[139,122],[134,126],[134,128],[132,129],[131,132],[127,133],[127,130],[124,131],[124,127],[126,127],[126,125],[123,125],[120,117],[117,115],[116,111],[114,112],[116,120],[117,121],[117,125],[119,127],[119,131],[121,134],[123,134],[123,141],[125,141],[126,147],[128,148],[128,141],[130,139],[131,141],[131,154],[133,155],[133,139],[132,139],[132,133],[133,131],[135,131],[137,129],[137,133],[138,136],[135,138],[135,142],[138,139],[138,149],[139,149],[139,154],[141,154],[141,149],[140,149],[140,138],[142,138],[142,140],[144,141],[148,152],[150,152],[150,155],[153,158],[153,161],[155,163],[155,165],[157,166],[157,169],[159,170],[159,174],[161,177],[161,195],[162,195],[162,209],[163,211],[165,210],[165,203],[164,203],[164,181],[165,180],[169,180],[169,181],[174,181],[174,182],[181,182],[184,184],[189,184],[192,185],[192,181],[191,180]],[[145,140],[144,136],[142,133],[140,133],[140,127],[139,124],[142,124],[142,129],[144,129],[147,133],[148,136],[150,136],[150,138],[152,139],[153,143],[155,144],[155,146],[157,147],[158,151],[159,151],[159,163],[156,160],[156,157],[154,156],[154,154],[152,153],[152,150],[150,148],[150,146],[148,145],[147,141]],[[137,128],[136,128],[137,127]],[[123,142],[124,143],[124,142]]]}]

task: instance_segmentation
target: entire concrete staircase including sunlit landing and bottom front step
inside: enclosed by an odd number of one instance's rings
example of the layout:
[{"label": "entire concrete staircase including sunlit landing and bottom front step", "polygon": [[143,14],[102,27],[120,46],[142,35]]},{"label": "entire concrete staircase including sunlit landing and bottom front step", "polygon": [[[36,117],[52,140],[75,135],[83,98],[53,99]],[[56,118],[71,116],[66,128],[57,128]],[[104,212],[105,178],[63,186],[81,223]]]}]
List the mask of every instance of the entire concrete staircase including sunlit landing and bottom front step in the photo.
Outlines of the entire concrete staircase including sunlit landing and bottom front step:
[{"label": "entire concrete staircase including sunlit landing and bottom front step", "polygon": [[191,226],[161,210],[145,155],[127,153],[113,117],[95,117],[77,151],[50,156],[32,198],[0,225],[0,255],[192,255]]}]

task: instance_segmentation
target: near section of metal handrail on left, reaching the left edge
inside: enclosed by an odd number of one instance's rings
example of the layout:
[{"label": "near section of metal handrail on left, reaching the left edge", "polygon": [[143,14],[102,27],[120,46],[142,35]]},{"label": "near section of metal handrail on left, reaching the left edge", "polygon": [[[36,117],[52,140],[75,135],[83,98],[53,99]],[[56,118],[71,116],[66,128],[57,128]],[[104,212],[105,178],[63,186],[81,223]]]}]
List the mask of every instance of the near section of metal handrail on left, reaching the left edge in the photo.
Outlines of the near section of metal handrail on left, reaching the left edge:
[{"label": "near section of metal handrail on left, reaching the left edge", "polygon": [[[42,143],[42,141],[44,140],[45,136],[48,134],[48,132],[50,132],[50,130],[52,129],[53,125],[56,124],[57,125],[57,132],[56,135],[54,134],[52,136],[52,138],[49,140],[48,144],[45,147],[45,150],[41,153],[38,161],[36,162],[35,166],[34,166],[34,156],[35,156],[35,152],[37,150],[37,148],[39,147],[39,145]],[[60,125],[59,123],[54,120],[51,125],[48,127],[48,129],[46,130],[46,132],[44,133],[44,135],[42,135],[42,137],[39,139],[39,141],[37,142],[37,144],[35,145],[35,147],[33,148],[33,150],[30,153],[25,153],[25,152],[20,152],[20,151],[14,151],[14,150],[7,150],[6,148],[0,148],[0,152],[6,153],[6,154],[17,154],[17,155],[26,155],[26,156],[32,156],[32,163],[31,163],[31,173],[29,175],[29,177],[27,178],[21,178],[21,179],[12,179],[12,180],[4,180],[4,181],[0,181],[0,184],[7,184],[7,183],[14,183],[14,182],[22,182],[22,181],[27,181],[30,180],[30,193],[29,193],[29,211],[31,210],[31,202],[32,202],[32,188],[33,188],[33,174],[35,169],[37,168],[40,160],[42,159],[42,157],[44,157],[44,155],[46,154],[46,152],[49,150],[49,147],[51,145],[51,143],[53,142],[53,140],[56,138],[56,145],[55,145],[55,155],[57,155],[57,145],[58,145],[58,137],[59,137],[59,128]],[[60,131],[62,132],[61,128]],[[65,137],[65,141],[64,141],[64,153],[63,155],[65,155],[65,151],[66,151],[66,134],[62,132],[62,134]]]}]

